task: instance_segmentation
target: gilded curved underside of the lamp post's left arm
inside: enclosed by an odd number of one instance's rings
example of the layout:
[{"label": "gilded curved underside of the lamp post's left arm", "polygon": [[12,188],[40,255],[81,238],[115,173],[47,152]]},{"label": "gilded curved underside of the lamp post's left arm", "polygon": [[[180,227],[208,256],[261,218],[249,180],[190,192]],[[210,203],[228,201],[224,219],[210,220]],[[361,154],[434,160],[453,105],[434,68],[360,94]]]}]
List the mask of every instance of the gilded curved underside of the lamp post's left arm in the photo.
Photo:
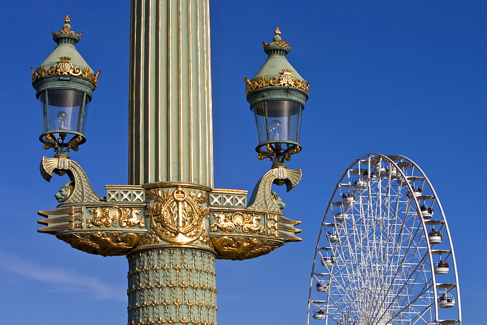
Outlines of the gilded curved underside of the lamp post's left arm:
[{"label": "gilded curved underside of the lamp post's left arm", "polygon": [[71,233],[58,235],[57,238],[85,253],[118,256],[125,255],[143,236],[144,234],[114,231]]}]

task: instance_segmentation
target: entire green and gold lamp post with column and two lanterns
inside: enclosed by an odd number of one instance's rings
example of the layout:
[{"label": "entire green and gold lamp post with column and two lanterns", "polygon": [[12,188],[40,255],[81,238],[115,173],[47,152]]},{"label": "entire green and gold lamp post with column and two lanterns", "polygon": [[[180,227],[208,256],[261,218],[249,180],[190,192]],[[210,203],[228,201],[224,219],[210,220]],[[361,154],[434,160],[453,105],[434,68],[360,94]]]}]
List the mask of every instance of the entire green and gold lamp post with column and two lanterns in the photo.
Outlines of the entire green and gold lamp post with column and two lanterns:
[{"label": "entire green and gold lamp post with column and two lanterns", "polygon": [[[99,75],[77,54],[80,35],[69,20],[59,32],[63,41],[32,72],[44,116],[41,141],[55,149],[54,158],[42,159],[41,174],[47,181],[53,173],[70,178],[56,194],[61,204],[39,211],[46,227],[38,231],[86,253],[127,256],[128,324],[216,324],[215,260],[254,258],[300,240],[294,228],[300,221],[284,217],[271,186],[290,190],[300,181],[300,170],[287,169],[282,159],[300,150],[309,84],[287,70],[275,81],[264,69],[270,86],[246,81],[258,127],[266,127],[259,157],[271,158],[273,168],[248,200],[247,191],[214,188],[208,1],[133,0],[131,8],[128,185],[106,185],[101,198],[67,155],[85,141],[86,108]],[[268,61],[284,64],[287,45],[276,37],[265,51]],[[52,126],[54,113],[59,119]]]}]

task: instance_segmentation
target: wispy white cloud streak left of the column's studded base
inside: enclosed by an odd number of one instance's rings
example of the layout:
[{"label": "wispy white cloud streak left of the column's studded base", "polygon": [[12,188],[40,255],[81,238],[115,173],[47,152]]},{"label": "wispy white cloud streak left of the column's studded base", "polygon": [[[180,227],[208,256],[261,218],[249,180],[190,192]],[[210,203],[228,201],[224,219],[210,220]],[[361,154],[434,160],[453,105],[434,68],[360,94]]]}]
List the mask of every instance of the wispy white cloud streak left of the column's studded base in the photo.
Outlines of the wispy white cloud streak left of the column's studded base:
[{"label": "wispy white cloud streak left of the column's studded base", "polygon": [[53,284],[57,290],[88,292],[96,299],[127,300],[126,289],[122,286],[106,284],[95,277],[76,271],[42,266],[22,260],[11,253],[0,251],[0,269],[32,280]]}]

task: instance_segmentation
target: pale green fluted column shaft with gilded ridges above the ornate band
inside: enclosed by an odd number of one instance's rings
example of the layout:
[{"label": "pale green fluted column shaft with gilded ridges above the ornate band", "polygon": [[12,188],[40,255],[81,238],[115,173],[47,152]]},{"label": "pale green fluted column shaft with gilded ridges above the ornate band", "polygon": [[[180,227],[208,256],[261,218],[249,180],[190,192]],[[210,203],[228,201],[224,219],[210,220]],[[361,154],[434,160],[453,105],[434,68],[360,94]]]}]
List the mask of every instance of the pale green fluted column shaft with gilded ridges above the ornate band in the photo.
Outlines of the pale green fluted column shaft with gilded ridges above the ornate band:
[{"label": "pale green fluted column shaft with gilded ridges above the ornate band", "polygon": [[208,0],[132,0],[129,183],[213,187]]}]

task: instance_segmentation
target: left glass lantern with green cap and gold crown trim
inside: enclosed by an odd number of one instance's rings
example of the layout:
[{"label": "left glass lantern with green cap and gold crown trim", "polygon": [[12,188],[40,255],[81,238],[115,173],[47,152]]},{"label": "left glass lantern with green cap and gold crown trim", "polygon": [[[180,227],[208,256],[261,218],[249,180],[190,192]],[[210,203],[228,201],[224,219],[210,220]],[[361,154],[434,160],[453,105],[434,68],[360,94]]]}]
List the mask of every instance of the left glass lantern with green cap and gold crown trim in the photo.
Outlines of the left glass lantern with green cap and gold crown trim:
[{"label": "left glass lantern with green cap and gold crown trim", "polygon": [[34,71],[32,86],[42,116],[39,140],[44,149],[54,148],[54,157],[69,157],[86,142],[84,130],[88,104],[100,71],[94,73],[75,48],[81,34],[75,34],[66,15],[62,30],[53,34],[54,51]]}]

